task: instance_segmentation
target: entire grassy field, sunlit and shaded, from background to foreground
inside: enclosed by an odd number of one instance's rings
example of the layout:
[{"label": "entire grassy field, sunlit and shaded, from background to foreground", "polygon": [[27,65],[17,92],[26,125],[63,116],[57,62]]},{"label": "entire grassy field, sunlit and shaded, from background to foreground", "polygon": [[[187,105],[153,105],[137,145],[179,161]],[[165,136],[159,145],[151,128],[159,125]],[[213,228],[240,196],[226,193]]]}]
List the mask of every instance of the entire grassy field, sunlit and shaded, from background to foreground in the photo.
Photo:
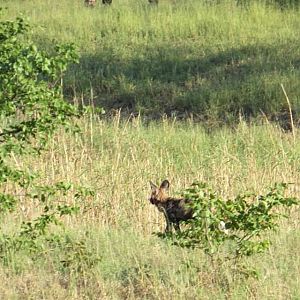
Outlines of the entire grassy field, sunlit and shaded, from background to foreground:
[{"label": "entire grassy field, sunlit and shaded, from background to foreground", "polygon": [[[0,187],[20,195],[17,210],[0,218],[0,299],[300,299],[299,208],[267,233],[269,251],[242,260],[257,269],[255,279],[225,257],[215,262],[159,239],[153,233],[164,218],[148,201],[149,180],[165,178],[172,195],[195,180],[226,199],[287,182],[288,195],[300,198],[300,132],[270,122],[287,111],[280,83],[297,116],[299,11],[232,1],[82,2],[0,0],[8,7],[1,18],[23,13],[41,47],[53,39],[78,45],[67,97],[135,114],[86,115],[77,121],[82,133],[58,132],[40,157],[12,157],[41,183],[73,182],[95,197],[63,227],[53,225],[43,251],[28,254],[3,245],[40,208],[20,188]],[[178,121],[186,112],[194,119]],[[235,124],[211,126],[224,119]]]}]

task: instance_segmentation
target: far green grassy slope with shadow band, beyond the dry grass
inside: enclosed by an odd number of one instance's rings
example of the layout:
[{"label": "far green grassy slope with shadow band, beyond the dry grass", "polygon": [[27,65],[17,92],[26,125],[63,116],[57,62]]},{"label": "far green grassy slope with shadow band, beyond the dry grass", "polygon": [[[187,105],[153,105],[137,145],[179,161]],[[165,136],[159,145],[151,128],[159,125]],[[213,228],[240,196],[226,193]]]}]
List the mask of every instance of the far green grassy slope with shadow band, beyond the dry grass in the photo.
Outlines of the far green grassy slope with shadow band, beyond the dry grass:
[{"label": "far green grassy slope with shadow band, beyond the dry grass", "polygon": [[185,110],[212,119],[285,110],[280,83],[299,109],[300,11],[224,1],[10,1],[43,46],[75,41],[82,58],[66,93],[150,115]]}]

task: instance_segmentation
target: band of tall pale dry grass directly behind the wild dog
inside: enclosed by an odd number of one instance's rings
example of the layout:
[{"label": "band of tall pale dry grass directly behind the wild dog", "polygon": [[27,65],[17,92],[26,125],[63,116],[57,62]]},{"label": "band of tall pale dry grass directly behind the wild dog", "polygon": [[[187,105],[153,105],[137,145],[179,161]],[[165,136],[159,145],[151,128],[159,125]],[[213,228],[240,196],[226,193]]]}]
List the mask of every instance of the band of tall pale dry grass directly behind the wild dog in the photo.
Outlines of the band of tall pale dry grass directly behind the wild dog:
[{"label": "band of tall pale dry grass directly behind the wild dog", "polygon": [[[205,181],[224,197],[263,192],[275,182],[292,183],[299,193],[300,144],[276,125],[251,125],[209,132],[192,120],[140,117],[112,121],[88,117],[82,134],[59,133],[49,151],[30,168],[42,171],[44,183],[68,181],[96,191],[88,222],[118,224],[130,220],[140,232],[157,230],[160,214],[149,206],[149,181],[168,178],[178,194],[193,181]],[[16,159],[17,161],[17,159]],[[17,162],[25,165],[23,159]],[[82,220],[81,220],[82,221]]]}]

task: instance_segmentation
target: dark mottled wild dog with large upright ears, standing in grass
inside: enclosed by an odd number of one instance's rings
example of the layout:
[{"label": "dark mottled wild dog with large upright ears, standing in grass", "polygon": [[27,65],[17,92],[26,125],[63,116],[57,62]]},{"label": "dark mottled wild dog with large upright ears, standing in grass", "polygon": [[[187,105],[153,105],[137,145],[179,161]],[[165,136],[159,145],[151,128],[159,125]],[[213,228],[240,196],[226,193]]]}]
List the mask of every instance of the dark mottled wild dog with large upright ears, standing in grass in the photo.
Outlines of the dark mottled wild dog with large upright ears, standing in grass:
[{"label": "dark mottled wild dog with large upright ears, standing in grass", "polygon": [[180,231],[179,223],[193,217],[193,210],[189,207],[190,201],[187,199],[168,197],[167,191],[170,186],[168,180],[164,180],[159,188],[152,182],[150,182],[150,186],[151,196],[149,201],[155,205],[159,211],[163,212],[167,223],[165,232],[172,231],[172,225],[176,231]]}]

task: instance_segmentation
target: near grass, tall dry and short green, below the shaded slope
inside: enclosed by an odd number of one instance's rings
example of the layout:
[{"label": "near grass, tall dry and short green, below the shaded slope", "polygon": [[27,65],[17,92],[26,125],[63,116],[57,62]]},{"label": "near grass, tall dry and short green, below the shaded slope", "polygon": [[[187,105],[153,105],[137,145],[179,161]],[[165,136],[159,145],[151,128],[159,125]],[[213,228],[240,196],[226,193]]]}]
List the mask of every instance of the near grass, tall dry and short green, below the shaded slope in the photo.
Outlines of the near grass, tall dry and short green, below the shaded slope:
[{"label": "near grass, tall dry and short green, below the shaded slope", "polygon": [[[147,201],[148,181],[164,178],[171,181],[172,194],[195,179],[209,182],[224,197],[245,190],[259,193],[284,181],[295,183],[289,193],[299,197],[298,135],[294,144],[291,135],[274,126],[243,122],[236,129],[212,133],[192,122],[164,120],[145,125],[139,119],[123,123],[118,117],[111,122],[86,119],[81,126],[83,136],[59,134],[39,160],[16,159],[19,165],[42,170],[47,183],[71,180],[96,189],[96,198],[88,203],[90,210],[66,220],[66,234],[85,240],[85,248],[75,258],[77,250],[63,245],[34,261],[21,253],[13,256],[0,273],[2,295],[33,299],[300,297],[300,257],[295,250],[300,246],[298,210],[281,222],[278,233],[270,233],[269,252],[244,260],[258,268],[256,281],[235,276],[226,264],[212,264],[201,251],[170,247],[152,236],[163,230],[164,220]],[[2,230],[14,230],[18,222],[32,216],[34,205],[23,203],[24,207],[2,220]],[[66,257],[71,259],[71,272],[60,263]],[[85,265],[97,257],[100,261],[93,268]],[[79,262],[85,267],[77,273]]]}]

